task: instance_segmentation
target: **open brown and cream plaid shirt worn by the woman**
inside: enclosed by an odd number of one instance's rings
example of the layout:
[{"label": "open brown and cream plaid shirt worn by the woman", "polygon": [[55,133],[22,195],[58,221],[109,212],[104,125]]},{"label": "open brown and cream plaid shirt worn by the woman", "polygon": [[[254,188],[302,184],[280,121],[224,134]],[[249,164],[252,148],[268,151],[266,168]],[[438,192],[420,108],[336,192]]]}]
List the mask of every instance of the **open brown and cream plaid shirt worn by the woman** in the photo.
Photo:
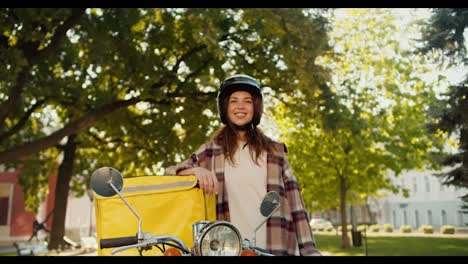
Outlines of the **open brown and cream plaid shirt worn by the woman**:
[{"label": "open brown and cream plaid shirt worn by the woman", "polygon": [[[286,158],[286,146],[283,143],[275,144],[279,150],[267,153],[267,192],[278,192],[281,207],[267,220],[267,249],[277,256],[321,255],[315,247],[300,187]],[[189,159],[167,168],[164,174],[176,175],[180,170],[193,167],[215,172],[220,185],[216,196],[217,219],[230,221],[224,187],[224,160],[221,146],[209,141]]]}]

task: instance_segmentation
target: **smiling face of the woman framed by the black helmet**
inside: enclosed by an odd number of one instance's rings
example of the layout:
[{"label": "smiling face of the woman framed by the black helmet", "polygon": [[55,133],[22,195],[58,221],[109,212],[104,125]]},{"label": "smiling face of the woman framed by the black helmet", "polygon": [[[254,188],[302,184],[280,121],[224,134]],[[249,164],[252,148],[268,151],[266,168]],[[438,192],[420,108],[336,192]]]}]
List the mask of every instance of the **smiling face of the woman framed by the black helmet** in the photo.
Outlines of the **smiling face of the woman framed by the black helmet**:
[{"label": "smiling face of the woman framed by the black helmet", "polygon": [[238,126],[248,124],[253,119],[254,102],[249,92],[237,91],[229,96],[227,114],[229,120]]}]

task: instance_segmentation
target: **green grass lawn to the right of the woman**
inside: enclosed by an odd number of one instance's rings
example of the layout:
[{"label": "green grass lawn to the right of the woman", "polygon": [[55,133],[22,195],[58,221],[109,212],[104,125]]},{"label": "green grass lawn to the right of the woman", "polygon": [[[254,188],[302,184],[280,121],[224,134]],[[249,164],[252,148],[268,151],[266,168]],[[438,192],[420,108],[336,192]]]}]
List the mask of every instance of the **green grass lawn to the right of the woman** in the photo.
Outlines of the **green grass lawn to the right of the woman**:
[{"label": "green grass lawn to the right of the woman", "polygon": [[[332,256],[365,256],[366,240],[361,247],[341,248],[341,235],[314,234],[317,248]],[[351,239],[350,239],[351,241]],[[368,256],[468,256],[468,238],[385,237],[367,238]]]}]

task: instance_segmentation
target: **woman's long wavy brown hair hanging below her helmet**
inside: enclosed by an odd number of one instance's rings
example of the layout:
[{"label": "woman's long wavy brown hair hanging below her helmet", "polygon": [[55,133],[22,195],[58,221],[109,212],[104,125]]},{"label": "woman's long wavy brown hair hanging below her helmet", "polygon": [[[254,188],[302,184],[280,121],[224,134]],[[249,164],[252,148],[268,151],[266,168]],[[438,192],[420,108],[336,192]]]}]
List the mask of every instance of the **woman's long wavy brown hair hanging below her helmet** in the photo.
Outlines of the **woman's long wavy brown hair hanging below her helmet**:
[{"label": "woman's long wavy brown hair hanging below her helmet", "polygon": [[[227,113],[227,104],[228,104],[229,96],[224,98],[223,109]],[[254,116],[261,115],[261,111],[263,110],[262,107],[259,107],[259,101],[257,97],[253,97],[254,100]],[[227,115],[226,115],[227,116]],[[261,129],[254,126],[252,122],[247,124],[246,127],[246,136],[247,136],[247,144],[249,146],[249,152],[252,160],[255,164],[259,165],[258,159],[260,155],[265,152],[271,152],[274,149],[274,141],[267,137]],[[223,153],[231,163],[234,163],[234,154],[238,148],[237,145],[237,129],[236,125],[231,122],[231,120],[227,120],[227,125],[222,126],[219,128],[213,135],[213,140],[216,144],[220,145],[223,148]],[[242,146],[244,147],[244,146]]]}]

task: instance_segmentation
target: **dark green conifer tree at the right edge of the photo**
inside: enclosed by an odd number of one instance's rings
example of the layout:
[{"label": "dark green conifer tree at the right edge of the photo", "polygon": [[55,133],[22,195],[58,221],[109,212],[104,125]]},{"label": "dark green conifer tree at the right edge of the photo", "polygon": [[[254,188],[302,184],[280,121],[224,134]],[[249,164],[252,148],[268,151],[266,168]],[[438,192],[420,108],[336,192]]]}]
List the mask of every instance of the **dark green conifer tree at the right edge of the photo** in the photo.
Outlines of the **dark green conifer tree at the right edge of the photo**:
[{"label": "dark green conifer tree at the right edge of the photo", "polygon": [[[438,8],[426,23],[420,49],[425,54],[440,53],[440,63],[449,66],[468,66],[466,50],[466,28],[468,9]],[[465,72],[466,74],[466,72]],[[451,167],[447,173],[438,173],[445,185],[468,188],[468,75],[455,85],[450,85],[434,106],[428,123],[431,133],[448,133],[458,138],[456,153],[439,158],[442,166]],[[468,213],[468,194],[462,196],[464,213]]]}]

